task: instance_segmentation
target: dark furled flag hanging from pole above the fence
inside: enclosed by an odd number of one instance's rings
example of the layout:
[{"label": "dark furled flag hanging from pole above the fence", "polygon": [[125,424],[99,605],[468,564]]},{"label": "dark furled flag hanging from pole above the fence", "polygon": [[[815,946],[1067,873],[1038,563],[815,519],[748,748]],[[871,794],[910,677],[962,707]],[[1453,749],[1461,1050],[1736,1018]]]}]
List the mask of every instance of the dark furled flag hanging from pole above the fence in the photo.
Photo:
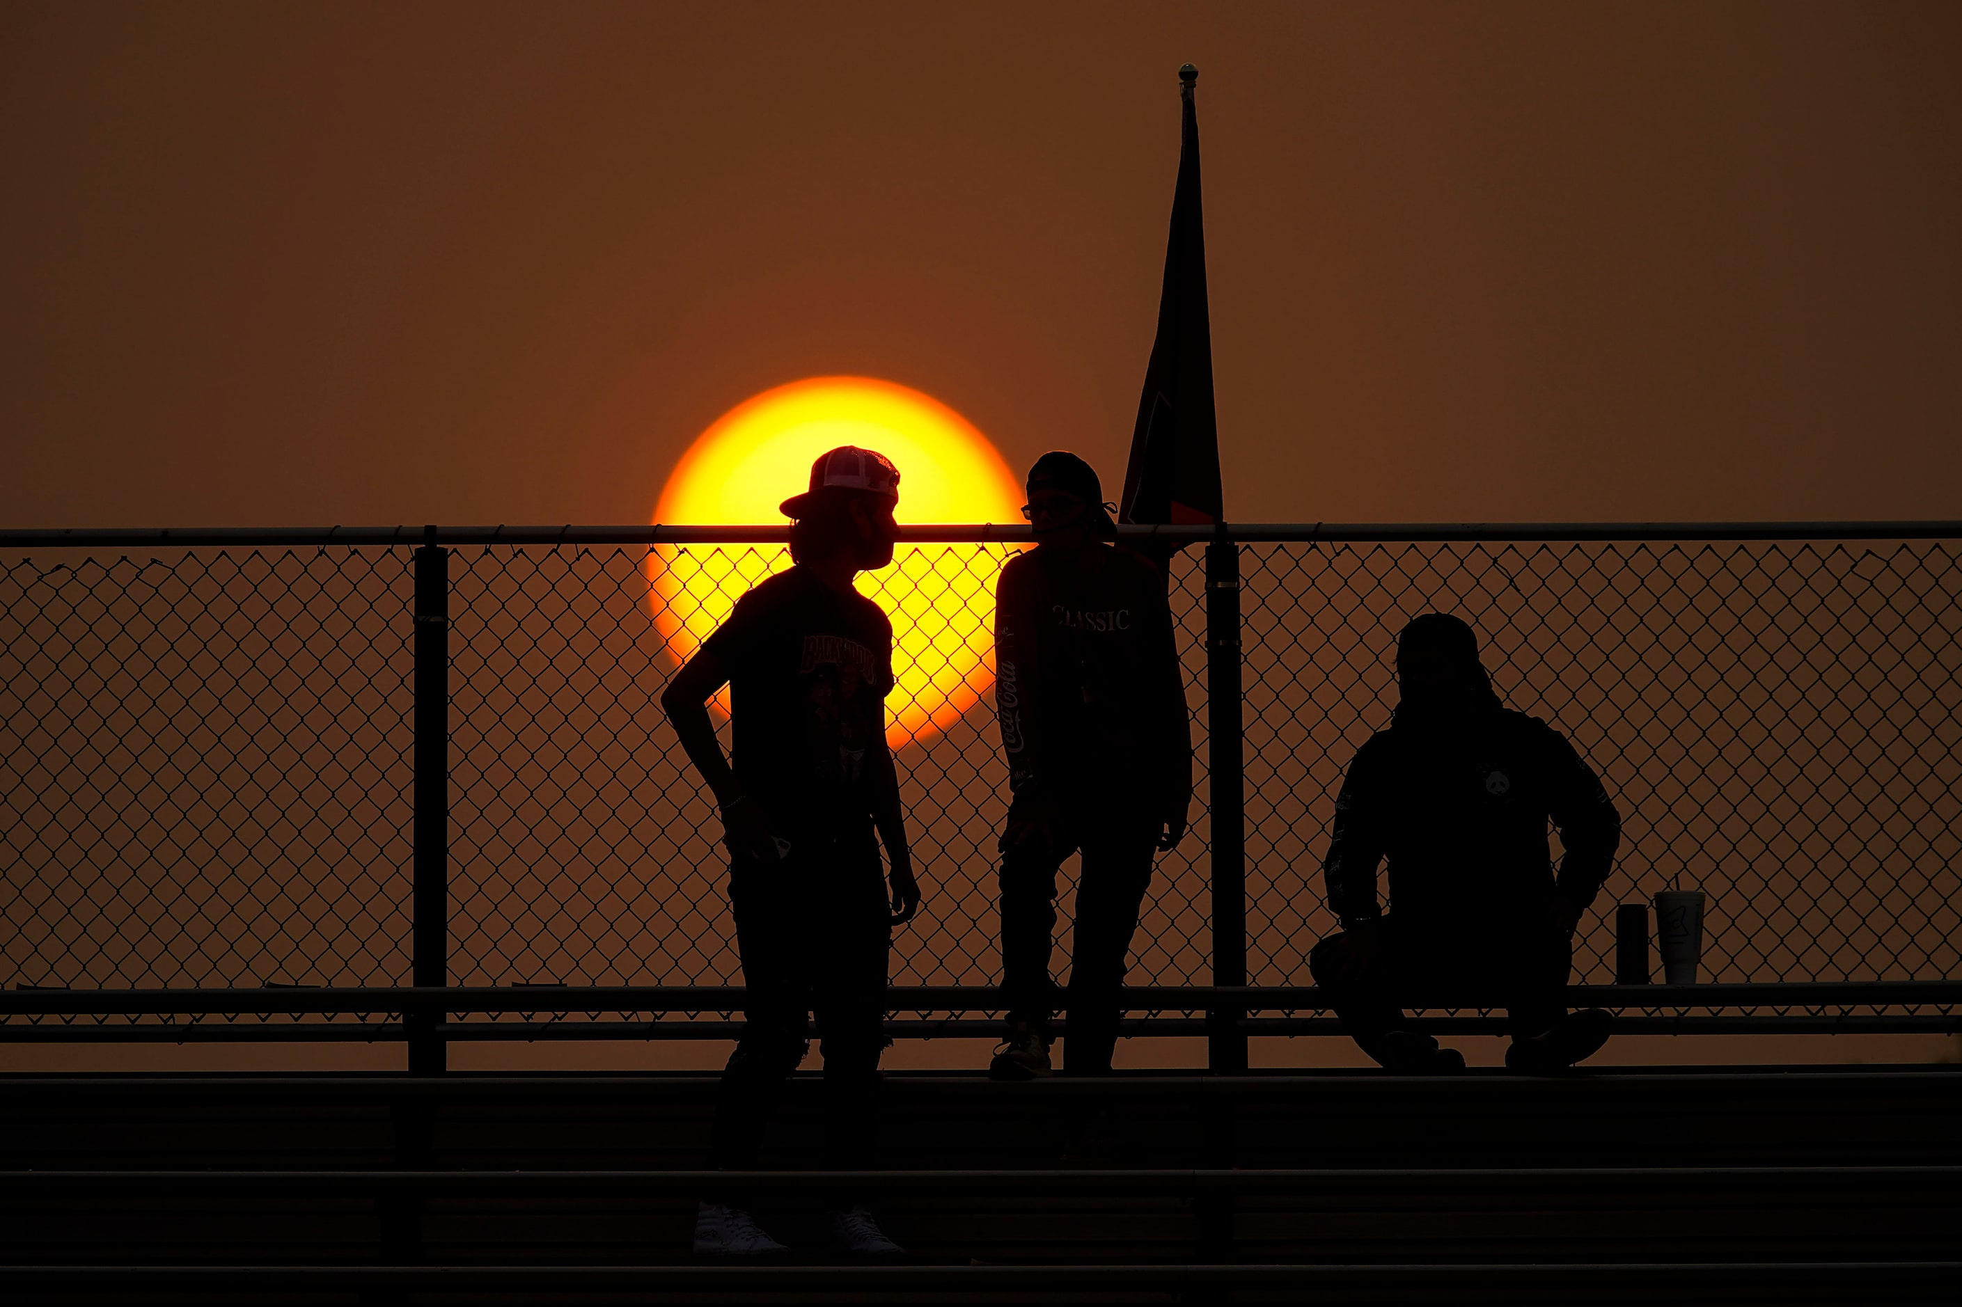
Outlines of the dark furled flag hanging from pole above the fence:
[{"label": "dark furled flag hanging from pole above the fence", "polygon": [[[1120,522],[1218,522],[1220,442],[1213,418],[1213,326],[1207,314],[1207,234],[1199,208],[1199,69],[1179,69],[1183,137],[1179,186],[1171,196],[1165,288],[1158,300],[1158,340],[1130,436]],[[1152,549],[1160,563],[1173,548]]]}]

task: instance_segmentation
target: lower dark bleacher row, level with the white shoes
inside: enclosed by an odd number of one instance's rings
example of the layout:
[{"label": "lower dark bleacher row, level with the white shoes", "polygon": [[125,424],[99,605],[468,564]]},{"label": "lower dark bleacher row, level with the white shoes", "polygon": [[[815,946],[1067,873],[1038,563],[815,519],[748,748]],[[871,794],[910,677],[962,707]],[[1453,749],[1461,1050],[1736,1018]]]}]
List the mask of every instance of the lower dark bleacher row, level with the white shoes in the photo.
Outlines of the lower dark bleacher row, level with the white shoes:
[{"label": "lower dark bleacher row, level with the white shoes", "polygon": [[[1962,1256],[1962,1168],[1105,1172],[8,1172],[0,1252],[39,1260],[683,1262],[748,1195],[799,1256],[869,1199],[924,1260],[1368,1262]],[[402,1234],[402,1221],[412,1234]]]}]

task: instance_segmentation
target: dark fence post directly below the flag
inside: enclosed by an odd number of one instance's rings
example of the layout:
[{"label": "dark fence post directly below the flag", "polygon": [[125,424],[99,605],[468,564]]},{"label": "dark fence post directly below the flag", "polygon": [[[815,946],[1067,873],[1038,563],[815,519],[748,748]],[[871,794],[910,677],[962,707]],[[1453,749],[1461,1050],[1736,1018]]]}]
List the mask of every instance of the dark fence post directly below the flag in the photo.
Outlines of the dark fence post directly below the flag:
[{"label": "dark fence post directly below the flag", "polygon": [[[1222,524],[1224,526],[1224,524]],[[1213,797],[1213,983],[1246,983],[1246,759],[1240,695],[1240,546],[1207,546],[1207,740]],[[1207,1011],[1207,1066],[1246,1070],[1238,1009]]]}]

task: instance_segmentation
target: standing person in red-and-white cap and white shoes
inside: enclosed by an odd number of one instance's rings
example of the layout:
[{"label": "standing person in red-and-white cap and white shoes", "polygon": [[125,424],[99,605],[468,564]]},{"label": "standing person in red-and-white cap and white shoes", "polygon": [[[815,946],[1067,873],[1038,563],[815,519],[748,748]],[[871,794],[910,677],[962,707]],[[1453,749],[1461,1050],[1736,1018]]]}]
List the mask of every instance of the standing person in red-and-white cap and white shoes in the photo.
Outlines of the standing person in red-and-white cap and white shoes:
[{"label": "standing person in red-and-white cap and white shoes", "polygon": [[[795,565],[736,602],[675,673],[661,706],[722,807],[730,905],[748,983],[744,1032],[722,1072],[712,1162],[755,1168],[783,1081],[808,1050],[816,1009],[824,1052],[826,1164],[863,1170],[877,1132],[879,1054],[891,926],[920,907],[906,852],[885,695],[893,624],[852,577],[893,561],[899,473],[844,445],[785,500]],[[708,701],[730,687],[734,765]],[[877,834],[877,840],[875,840]],[[879,865],[891,860],[891,909]],[[734,1195],[702,1203],[698,1254],[783,1252]],[[832,1215],[848,1252],[899,1246],[863,1205]]]}]

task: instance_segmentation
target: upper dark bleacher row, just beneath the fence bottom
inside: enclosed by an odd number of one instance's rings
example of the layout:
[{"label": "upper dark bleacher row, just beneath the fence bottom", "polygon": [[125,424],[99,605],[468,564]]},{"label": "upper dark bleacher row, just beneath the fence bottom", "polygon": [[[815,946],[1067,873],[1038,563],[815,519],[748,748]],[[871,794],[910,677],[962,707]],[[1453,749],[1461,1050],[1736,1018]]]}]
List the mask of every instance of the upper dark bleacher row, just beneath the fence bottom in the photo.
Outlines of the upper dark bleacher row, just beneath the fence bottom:
[{"label": "upper dark bleacher row, just beneath the fence bottom", "polygon": [[[6,1075],[0,1168],[638,1168],[706,1158],[708,1075]],[[765,1164],[816,1164],[799,1075]],[[893,1168],[1962,1164],[1962,1068],[1116,1075],[897,1073]]]}]

